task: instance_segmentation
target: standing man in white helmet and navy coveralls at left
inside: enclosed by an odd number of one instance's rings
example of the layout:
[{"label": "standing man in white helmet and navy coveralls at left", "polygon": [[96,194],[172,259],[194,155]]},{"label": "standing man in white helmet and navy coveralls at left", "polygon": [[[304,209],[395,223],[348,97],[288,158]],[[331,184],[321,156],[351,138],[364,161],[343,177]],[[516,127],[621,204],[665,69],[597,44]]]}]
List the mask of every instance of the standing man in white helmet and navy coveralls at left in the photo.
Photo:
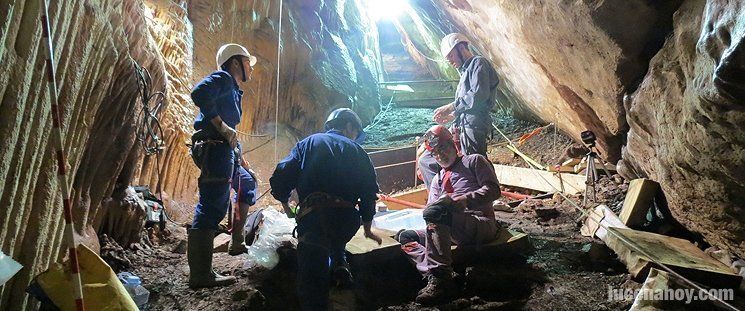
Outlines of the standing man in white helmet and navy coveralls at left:
[{"label": "standing man in white helmet and navy coveralls at left", "polygon": [[[250,79],[256,57],[243,46],[226,44],[218,50],[216,63],[217,71],[205,77],[191,92],[192,100],[199,107],[191,153],[201,170],[199,203],[189,229],[187,251],[191,288],[235,283],[234,276],[222,276],[212,270],[212,243],[218,224],[230,206],[231,185],[240,198],[239,214],[243,214],[240,219],[245,220],[248,207],[255,203],[256,183],[241,156],[235,128],[241,121],[243,96],[237,81]],[[235,229],[234,234],[243,232],[242,228]],[[241,236],[234,236],[231,241],[233,253],[240,251],[242,241],[238,239],[242,239]]]}]

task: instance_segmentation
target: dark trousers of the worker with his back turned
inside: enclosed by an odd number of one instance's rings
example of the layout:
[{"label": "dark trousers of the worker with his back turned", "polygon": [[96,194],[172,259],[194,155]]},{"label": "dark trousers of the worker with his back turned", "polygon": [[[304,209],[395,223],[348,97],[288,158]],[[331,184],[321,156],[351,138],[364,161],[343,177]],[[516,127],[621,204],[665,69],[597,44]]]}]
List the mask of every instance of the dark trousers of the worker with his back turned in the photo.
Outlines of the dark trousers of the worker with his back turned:
[{"label": "dark trousers of the worker with his back turned", "polygon": [[331,269],[346,262],[345,247],[360,228],[354,208],[315,207],[298,220],[297,290],[303,310],[326,310]]}]

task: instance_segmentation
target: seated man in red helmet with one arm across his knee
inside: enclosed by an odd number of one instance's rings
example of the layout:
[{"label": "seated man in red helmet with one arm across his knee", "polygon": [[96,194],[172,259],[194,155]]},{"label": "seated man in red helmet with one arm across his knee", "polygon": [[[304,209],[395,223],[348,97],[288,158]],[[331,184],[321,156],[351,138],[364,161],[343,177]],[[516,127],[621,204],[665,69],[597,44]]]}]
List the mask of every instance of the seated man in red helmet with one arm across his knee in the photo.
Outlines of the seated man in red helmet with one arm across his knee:
[{"label": "seated man in red helmet with one arm across his knee", "polygon": [[457,292],[453,281],[452,243],[478,245],[497,236],[492,202],[499,182],[483,155],[458,156],[451,133],[442,125],[424,135],[425,147],[443,168],[433,178],[424,210],[426,230],[399,232],[397,240],[427,277],[416,301],[423,305],[447,301]]}]

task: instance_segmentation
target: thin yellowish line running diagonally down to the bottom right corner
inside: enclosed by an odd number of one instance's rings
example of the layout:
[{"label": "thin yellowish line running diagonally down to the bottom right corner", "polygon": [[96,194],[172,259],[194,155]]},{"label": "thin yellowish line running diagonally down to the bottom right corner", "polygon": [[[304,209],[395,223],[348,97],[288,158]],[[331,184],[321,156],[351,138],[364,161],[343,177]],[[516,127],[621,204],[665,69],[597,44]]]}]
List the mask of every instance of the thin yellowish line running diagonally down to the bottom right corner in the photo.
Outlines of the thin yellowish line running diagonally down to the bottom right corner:
[{"label": "thin yellowish line running diagonally down to the bottom right corner", "polygon": [[[504,137],[510,143],[510,145],[512,145],[514,148],[517,148],[517,146],[515,146],[515,144],[513,144],[512,141],[506,135],[504,135],[504,133],[502,133],[502,131],[500,131],[499,128],[494,123],[492,123],[492,126],[499,132],[499,134],[502,135],[502,137]],[[553,188],[556,191],[556,193],[558,193],[562,198],[564,198],[564,200],[566,200],[567,202],[571,203],[572,207],[574,207],[575,209],[577,209],[577,211],[579,211],[584,217],[587,217],[587,219],[589,219],[590,221],[594,221],[594,219],[592,217],[590,217],[590,214],[587,211],[585,211],[584,209],[582,209],[579,206],[579,204],[577,204],[572,199],[570,199],[569,197],[567,197],[563,192],[559,191],[559,189],[557,189],[552,183],[550,183],[548,180],[546,180],[546,178],[544,178],[543,176],[541,176],[540,174],[538,174],[536,171],[531,170],[531,173],[534,174],[534,175],[536,175],[536,176],[538,176],[540,179],[542,179],[544,182],[546,182],[546,184],[548,184],[549,186],[551,186],[551,188]],[[672,274],[673,276],[675,276],[675,277],[683,280],[684,282],[688,283],[689,285],[691,285],[692,287],[694,287],[695,289],[697,289],[699,291],[699,293],[700,292],[706,293],[706,295],[708,297],[712,298],[710,300],[718,301],[722,305],[726,306],[727,308],[729,308],[731,310],[735,310],[735,311],[738,311],[739,310],[736,307],[732,306],[731,304],[729,304],[729,303],[725,302],[724,300],[722,300],[720,297],[716,297],[716,296],[710,294],[709,291],[706,290],[706,288],[704,286],[698,285],[694,281],[691,281],[688,278],[686,278],[686,277],[680,275],[679,273],[673,271],[666,264],[662,263],[659,260],[659,258],[657,258],[657,256],[653,256],[652,254],[650,254],[647,251],[643,250],[638,245],[636,245],[636,243],[634,243],[633,241],[629,240],[625,236],[616,234],[614,231],[610,230],[610,227],[604,225],[603,222],[602,222],[602,220],[601,221],[597,221],[597,224],[598,224],[598,226],[603,227],[604,229],[606,229],[606,231],[609,234],[614,235],[616,238],[618,238],[619,240],[621,240],[622,242],[624,242],[626,245],[630,246],[634,251],[636,251],[636,252],[638,252],[638,253],[646,256],[647,258],[651,259],[652,261],[654,261],[657,265],[660,266],[660,268],[662,268],[666,272],[668,272],[668,273]]]}]

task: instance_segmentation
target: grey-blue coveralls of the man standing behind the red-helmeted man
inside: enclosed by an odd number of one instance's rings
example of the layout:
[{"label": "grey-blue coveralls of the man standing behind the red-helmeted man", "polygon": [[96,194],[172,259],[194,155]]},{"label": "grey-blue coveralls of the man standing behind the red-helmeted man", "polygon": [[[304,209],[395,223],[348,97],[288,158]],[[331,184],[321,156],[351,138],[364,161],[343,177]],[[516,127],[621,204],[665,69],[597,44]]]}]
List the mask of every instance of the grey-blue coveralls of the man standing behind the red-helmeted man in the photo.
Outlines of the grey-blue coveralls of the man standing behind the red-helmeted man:
[{"label": "grey-blue coveralls of the man standing behind the red-helmeted man", "polygon": [[[486,156],[486,138],[491,131],[489,111],[497,102],[499,77],[486,58],[474,56],[460,68],[461,75],[455,91],[455,123],[460,130],[460,150],[463,155]],[[429,188],[432,178],[440,171],[429,151],[419,157],[419,170],[424,184]]]}]

